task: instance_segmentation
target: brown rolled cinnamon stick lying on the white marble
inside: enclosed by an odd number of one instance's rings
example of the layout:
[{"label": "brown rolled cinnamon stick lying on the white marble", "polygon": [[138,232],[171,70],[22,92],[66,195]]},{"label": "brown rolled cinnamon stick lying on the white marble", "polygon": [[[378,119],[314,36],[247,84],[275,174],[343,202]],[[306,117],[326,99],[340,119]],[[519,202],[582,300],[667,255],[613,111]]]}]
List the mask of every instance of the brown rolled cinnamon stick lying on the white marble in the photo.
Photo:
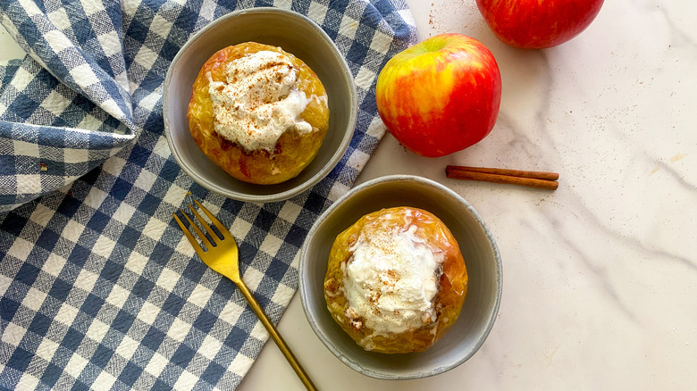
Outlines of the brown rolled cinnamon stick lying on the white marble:
[{"label": "brown rolled cinnamon stick lying on the white marble", "polygon": [[517,186],[556,190],[559,174],[546,171],[520,171],[484,167],[447,166],[445,175],[450,179],[482,180]]}]

